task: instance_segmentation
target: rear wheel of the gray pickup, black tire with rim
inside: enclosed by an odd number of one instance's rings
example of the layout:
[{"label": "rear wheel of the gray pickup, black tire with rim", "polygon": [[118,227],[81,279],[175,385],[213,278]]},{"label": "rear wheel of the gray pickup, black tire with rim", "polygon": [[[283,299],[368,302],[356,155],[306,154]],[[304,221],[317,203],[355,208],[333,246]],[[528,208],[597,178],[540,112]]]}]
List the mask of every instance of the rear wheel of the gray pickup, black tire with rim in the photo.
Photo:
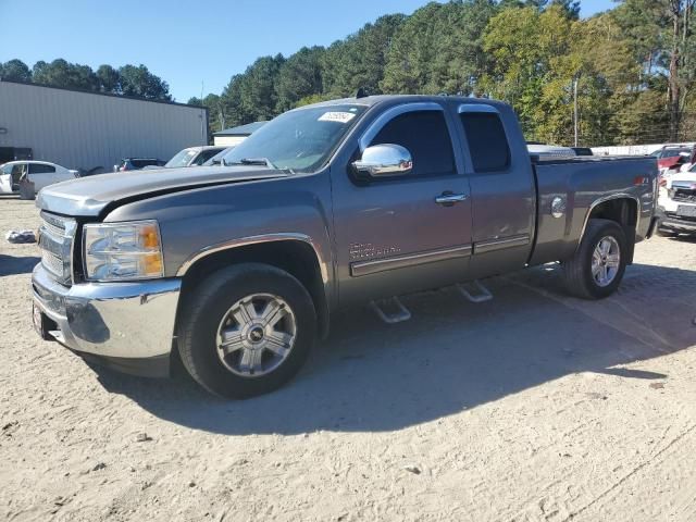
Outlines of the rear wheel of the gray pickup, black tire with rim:
[{"label": "rear wheel of the gray pickup, black tire with rim", "polygon": [[[605,256],[597,252],[599,258],[596,260],[597,263],[593,264],[596,250],[607,245],[611,253]],[[614,250],[619,253],[618,262],[613,258]],[[621,284],[627,256],[629,246],[621,225],[609,220],[589,220],[575,254],[563,262],[563,276],[568,290],[583,299],[602,299],[610,296]],[[617,265],[608,266],[602,263],[617,263]],[[598,266],[596,273],[593,273],[594,266]],[[606,268],[606,272],[602,272],[602,266]],[[602,277],[605,274],[607,277]]]}]

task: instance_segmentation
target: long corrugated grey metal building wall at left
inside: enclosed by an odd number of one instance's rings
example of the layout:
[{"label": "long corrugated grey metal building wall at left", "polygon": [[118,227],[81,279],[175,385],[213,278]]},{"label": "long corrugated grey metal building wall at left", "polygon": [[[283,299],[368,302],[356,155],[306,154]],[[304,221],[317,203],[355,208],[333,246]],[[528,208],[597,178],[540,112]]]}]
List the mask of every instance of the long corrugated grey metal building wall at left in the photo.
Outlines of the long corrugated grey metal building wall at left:
[{"label": "long corrugated grey metal building wall at left", "polygon": [[121,158],[166,161],[208,145],[201,108],[10,82],[0,82],[0,147],[30,147],[35,160],[107,172]]}]

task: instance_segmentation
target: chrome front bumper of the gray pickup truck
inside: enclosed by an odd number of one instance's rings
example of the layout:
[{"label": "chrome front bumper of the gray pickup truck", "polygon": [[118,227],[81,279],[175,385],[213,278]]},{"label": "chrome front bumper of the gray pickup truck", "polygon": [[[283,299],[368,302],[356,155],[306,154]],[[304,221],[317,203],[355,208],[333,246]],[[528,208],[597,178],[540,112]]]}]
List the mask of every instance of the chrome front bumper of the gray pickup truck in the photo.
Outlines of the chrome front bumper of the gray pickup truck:
[{"label": "chrome front bumper of the gray pickup truck", "polygon": [[32,286],[46,338],[126,373],[169,375],[179,278],[65,287],[39,263]]}]

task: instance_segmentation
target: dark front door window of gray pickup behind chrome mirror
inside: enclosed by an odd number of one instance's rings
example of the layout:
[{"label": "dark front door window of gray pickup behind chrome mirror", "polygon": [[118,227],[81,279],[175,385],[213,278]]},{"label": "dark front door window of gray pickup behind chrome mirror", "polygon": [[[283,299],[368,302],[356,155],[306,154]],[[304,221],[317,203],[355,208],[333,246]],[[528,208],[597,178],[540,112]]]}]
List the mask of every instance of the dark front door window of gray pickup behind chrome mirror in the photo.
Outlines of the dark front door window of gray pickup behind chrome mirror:
[{"label": "dark front door window of gray pickup behind chrome mirror", "polygon": [[413,159],[410,176],[455,174],[455,154],[443,111],[414,111],[395,116],[370,145],[394,144]]}]

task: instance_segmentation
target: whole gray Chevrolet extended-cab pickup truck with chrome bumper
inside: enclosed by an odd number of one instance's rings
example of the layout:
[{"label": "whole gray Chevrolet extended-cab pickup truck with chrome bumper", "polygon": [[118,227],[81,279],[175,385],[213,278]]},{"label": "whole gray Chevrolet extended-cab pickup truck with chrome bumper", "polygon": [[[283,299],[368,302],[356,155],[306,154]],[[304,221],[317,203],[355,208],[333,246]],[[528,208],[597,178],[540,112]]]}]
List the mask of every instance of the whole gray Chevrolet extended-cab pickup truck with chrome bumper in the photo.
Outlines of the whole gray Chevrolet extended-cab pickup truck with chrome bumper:
[{"label": "whole gray Chevrolet extended-cab pickup truck with chrome bumper", "polygon": [[210,391],[247,397],[288,381],[345,307],[396,322],[394,296],[549,262],[572,294],[606,297],[656,224],[654,158],[543,161],[490,100],[303,107],[225,165],[41,190],[44,338],[151,376],[181,357]]}]

